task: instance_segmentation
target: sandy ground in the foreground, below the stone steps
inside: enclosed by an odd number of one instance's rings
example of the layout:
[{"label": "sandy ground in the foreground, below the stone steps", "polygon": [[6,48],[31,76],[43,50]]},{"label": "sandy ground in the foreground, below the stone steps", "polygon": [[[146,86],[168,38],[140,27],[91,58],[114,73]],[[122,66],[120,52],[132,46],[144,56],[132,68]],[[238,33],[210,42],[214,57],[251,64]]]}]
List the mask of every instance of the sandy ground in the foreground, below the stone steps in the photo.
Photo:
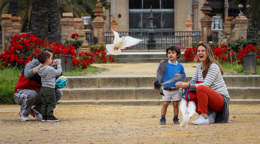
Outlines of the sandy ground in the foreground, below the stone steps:
[{"label": "sandy ground in the foreground, below the stone steps", "polygon": [[[179,132],[173,108],[160,125],[161,106],[57,105],[58,122],[31,115],[20,121],[20,106],[0,105],[0,143],[259,143],[260,105],[230,105],[229,122],[194,125]],[[179,112],[180,122],[182,120]]]}]

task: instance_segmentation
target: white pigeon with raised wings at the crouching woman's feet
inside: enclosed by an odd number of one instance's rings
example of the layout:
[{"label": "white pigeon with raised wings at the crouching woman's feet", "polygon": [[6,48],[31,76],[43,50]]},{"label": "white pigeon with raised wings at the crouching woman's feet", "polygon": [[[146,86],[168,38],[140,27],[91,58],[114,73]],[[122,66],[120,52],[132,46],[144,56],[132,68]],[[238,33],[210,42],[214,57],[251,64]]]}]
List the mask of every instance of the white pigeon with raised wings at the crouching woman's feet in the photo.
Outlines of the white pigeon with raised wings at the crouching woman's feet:
[{"label": "white pigeon with raised wings at the crouching woman's feet", "polygon": [[[194,101],[189,101],[188,107],[187,107],[187,101],[185,99],[180,101],[180,111],[183,115],[183,120],[180,123],[180,128],[183,127],[184,132],[185,132],[186,129],[188,128],[188,123],[189,123],[190,117],[192,115],[194,115],[194,113],[196,111],[196,105],[195,105]],[[179,131],[180,131],[180,129],[179,129]]]}]

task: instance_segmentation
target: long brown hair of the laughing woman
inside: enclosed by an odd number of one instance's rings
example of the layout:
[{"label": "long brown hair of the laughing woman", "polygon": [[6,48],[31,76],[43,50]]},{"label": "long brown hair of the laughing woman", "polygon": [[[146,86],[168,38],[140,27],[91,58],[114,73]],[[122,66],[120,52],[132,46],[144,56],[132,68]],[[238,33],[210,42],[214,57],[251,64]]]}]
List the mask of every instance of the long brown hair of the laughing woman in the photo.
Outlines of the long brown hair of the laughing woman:
[{"label": "long brown hair of the laughing woman", "polygon": [[204,68],[205,68],[205,69],[204,69],[204,71],[202,72],[203,79],[205,79],[205,77],[207,76],[208,69],[209,69],[210,65],[212,64],[212,62],[216,63],[216,64],[219,66],[219,69],[220,69],[220,71],[221,71],[221,75],[223,75],[224,72],[223,72],[223,70],[222,70],[222,67],[221,67],[221,65],[217,62],[217,60],[215,60],[214,54],[213,54],[213,52],[212,52],[212,50],[211,50],[211,47],[210,47],[210,45],[207,44],[207,43],[199,43],[199,44],[197,45],[197,48],[196,48],[196,56],[195,56],[195,58],[194,58],[194,61],[195,61],[195,62],[199,61],[199,58],[198,58],[198,55],[197,55],[197,51],[198,51],[198,47],[199,47],[199,46],[204,46],[204,47],[206,48],[206,54],[208,55],[207,62],[206,62],[206,64],[204,65]]}]

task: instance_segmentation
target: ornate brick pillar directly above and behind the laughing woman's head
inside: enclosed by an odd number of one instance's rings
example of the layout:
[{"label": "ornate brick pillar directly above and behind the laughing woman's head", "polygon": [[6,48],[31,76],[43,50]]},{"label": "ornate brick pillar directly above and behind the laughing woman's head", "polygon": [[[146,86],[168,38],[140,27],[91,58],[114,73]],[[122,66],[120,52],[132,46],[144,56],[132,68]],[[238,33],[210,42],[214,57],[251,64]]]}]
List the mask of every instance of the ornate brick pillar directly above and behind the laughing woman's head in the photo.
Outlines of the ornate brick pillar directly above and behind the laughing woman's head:
[{"label": "ornate brick pillar directly above and behind the laughing woman's head", "polygon": [[201,41],[208,43],[207,37],[211,35],[211,24],[212,19],[208,14],[212,11],[211,7],[208,4],[208,1],[205,1],[203,7],[200,9],[204,16],[200,19],[201,23]]}]

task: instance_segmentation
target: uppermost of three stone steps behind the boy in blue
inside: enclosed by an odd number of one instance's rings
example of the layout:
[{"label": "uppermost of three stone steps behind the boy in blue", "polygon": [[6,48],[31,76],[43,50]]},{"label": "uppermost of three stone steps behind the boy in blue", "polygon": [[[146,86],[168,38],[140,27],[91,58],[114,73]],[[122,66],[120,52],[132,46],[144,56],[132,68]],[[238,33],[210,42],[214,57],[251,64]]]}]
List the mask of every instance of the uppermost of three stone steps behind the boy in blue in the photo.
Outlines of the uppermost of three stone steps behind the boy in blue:
[{"label": "uppermost of three stone steps behind the boy in blue", "polygon": [[[68,76],[68,88],[153,87],[155,76]],[[192,76],[186,76],[188,82]],[[260,76],[223,76],[227,87],[260,87]],[[63,90],[63,89],[62,89]]]}]

